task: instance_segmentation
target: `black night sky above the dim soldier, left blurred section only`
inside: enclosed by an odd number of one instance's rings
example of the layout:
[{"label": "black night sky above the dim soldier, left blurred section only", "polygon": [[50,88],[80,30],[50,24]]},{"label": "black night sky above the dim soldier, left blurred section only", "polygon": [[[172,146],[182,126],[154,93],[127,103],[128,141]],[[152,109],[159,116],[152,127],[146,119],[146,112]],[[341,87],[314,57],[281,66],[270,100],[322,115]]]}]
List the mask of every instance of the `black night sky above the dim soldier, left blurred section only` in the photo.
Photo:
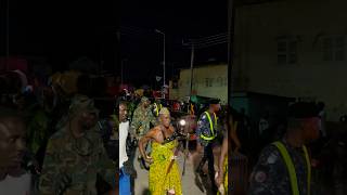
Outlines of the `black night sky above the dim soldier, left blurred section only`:
[{"label": "black night sky above the dim soldier, left blurred section only", "polygon": [[[10,0],[10,54],[44,56],[54,65],[64,66],[79,56],[100,62],[101,50],[105,56],[115,53],[119,26],[116,4],[88,2]],[[4,0],[1,5],[4,41]],[[0,52],[4,55],[4,44]],[[115,60],[107,62],[114,64]]]}]

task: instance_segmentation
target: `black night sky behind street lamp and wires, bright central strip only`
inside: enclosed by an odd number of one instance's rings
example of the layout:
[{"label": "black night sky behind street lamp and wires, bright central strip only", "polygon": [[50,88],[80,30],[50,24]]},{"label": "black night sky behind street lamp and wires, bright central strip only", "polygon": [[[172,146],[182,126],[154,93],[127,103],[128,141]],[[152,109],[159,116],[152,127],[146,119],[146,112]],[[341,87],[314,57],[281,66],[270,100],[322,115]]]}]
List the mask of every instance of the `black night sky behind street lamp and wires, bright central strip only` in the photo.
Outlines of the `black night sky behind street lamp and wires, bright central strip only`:
[{"label": "black night sky behind street lamp and wires, bright central strip only", "polygon": [[[154,75],[163,74],[163,37],[154,32],[155,28],[164,31],[167,38],[167,77],[172,76],[172,70],[190,64],[191,52],[182,48],[182,39],[227,32],[227,0],[126,2],[121,6],[120,25],[131,29],[126,29],[121,37],[121,53],[123,57],[131,58],[125,62],[125,77],[131,80],[139,78],[137,69],[141,69],[142,75],[150,75],[151,81]],[[195,56],[196,64],[206,63],[211,57],[226,61],[227,44],[198,50]],[[138,68],[138,64],[142,68]]]}]

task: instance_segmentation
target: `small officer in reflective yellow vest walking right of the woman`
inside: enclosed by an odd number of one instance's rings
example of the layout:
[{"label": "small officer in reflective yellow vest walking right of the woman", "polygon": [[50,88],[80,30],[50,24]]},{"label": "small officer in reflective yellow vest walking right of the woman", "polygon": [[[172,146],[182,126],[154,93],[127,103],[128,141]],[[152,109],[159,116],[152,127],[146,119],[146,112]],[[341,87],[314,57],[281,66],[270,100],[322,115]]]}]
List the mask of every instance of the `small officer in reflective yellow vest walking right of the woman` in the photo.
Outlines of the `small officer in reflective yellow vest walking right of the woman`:
[{"label": "small officer in reflective yellow vest walking right of the woman", "polygon": [[196,169],[197,173],[204,174],[202,168],[208,160],[208,172],[211,181],[213,191],[217,193],[215,184],[215,160],[213,153],[214,141],[217,138],[217,116],[216,113],[220,109],[219,100],[211,100],[209,102],[208,110],[203,113],[197,122],[196,135],[198,143],[204,146],[204,156]]}]

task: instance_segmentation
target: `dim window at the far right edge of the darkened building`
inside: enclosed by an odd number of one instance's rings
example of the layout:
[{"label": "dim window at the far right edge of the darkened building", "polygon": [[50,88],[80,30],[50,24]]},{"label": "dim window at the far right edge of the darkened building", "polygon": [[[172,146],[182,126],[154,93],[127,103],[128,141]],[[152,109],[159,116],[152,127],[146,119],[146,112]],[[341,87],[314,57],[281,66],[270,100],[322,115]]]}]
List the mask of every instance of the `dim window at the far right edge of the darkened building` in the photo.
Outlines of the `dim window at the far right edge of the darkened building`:
[{"label": "dim window at the far right edge of the darkened building", "polygon": [[331,36],[323,38],[323,61],[345,61],[345,37]]}]

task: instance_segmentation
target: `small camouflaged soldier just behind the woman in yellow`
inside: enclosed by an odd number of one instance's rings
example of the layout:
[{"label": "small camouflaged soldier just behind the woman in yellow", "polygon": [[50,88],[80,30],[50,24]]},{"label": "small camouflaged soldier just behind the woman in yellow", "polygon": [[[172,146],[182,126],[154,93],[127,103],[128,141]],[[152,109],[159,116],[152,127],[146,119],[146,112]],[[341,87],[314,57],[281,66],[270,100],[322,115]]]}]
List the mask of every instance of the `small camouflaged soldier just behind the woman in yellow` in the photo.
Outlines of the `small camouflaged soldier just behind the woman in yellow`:
[{"label": "small camouflaged soldier just behind the woman in yellow", "polygon": [[[143,96],[141,99],[141,104],[139,104],[138,108],[133,113],[132,121],[130,125],[130,135],[138,141],[145,135],[150,129],[151,125],[154,127],[156,126],[157,121],[156,118],[153,116],[152,109],[151,109],[151,102],[147,98]],[[146,152],[150,153],[151,151],[151,144],[147,144]],[[138,160],[141,160],[142,157],[137,151]],[[141,168],[143,168],[143,165],[141,165]]]}]

